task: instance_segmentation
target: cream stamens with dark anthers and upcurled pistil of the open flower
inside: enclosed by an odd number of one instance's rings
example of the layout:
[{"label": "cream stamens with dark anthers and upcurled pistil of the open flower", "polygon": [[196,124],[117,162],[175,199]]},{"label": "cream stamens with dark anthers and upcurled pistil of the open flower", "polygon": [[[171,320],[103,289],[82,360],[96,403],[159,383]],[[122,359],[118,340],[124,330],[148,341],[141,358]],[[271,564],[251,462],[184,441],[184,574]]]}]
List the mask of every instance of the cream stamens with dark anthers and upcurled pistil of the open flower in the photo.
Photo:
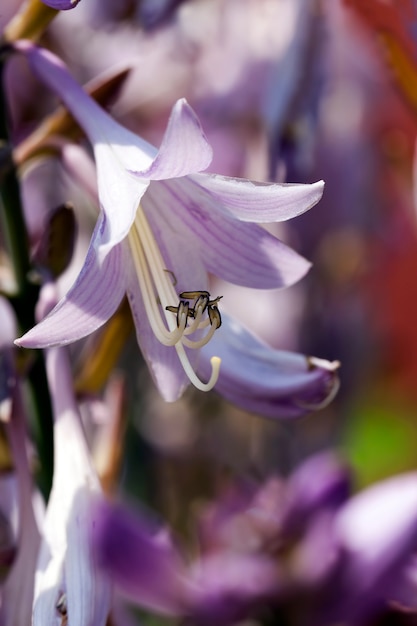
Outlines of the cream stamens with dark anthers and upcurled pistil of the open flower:
[{"label": "cream stamens with dark anthers and upcurled pistil of the open flower", "polygon": [[172,282],[174,275],[165,267],[141,206],[128,233],[128,242],[146,315],[155,338],[163,345],[175,348],[185,373],[197,389],[209,391],[218,380],[220,358],[211,358],[210,379],[203,382],[194,371],[185,348],[205,346],[220,327],[218,303],[221,296],[211,299],[208,291],[176,293]]}]

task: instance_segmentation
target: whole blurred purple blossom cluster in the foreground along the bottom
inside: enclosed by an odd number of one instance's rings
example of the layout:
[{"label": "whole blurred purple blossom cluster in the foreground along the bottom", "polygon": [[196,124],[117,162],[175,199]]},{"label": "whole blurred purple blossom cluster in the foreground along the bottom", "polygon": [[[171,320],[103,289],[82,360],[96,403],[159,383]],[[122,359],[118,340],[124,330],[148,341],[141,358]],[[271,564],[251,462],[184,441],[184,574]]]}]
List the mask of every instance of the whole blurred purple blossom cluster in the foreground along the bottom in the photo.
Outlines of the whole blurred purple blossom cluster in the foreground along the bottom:
[{"label": "whole blurred purple blossom cluster in the foreground along the bottom", "polygon": [[231,491],[200,514],[191,563],[143,514],[99,502],[93,548],[126,597],[194,624],[361,624],[396,600],[412,563],[417,474],[349,490],[349,473],[322,454],[286,483]]}]

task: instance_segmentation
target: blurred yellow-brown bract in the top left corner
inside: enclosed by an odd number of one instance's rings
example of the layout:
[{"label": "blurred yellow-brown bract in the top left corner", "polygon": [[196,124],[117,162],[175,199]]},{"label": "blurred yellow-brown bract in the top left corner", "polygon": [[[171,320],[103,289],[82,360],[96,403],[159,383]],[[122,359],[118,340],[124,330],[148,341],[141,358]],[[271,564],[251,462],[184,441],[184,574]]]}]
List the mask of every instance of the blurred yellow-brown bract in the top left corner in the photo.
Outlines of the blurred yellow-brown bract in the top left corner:
[{"label": "blurred yellow-brown bract in the top left corner", "polygon": [[58,13],[57,9],[46,6],[41,0],[27,0],[4,29],[3,42],[17,39],[37,41]]}]

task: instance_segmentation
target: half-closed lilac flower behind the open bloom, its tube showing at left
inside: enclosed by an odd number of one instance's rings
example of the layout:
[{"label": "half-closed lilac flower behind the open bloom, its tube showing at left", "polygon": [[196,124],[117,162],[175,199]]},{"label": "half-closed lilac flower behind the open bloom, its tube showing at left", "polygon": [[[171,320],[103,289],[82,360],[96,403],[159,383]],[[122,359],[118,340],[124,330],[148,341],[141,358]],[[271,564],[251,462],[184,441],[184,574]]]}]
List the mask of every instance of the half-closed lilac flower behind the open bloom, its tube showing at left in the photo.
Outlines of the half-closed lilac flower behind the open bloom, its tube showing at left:
[{"label": "half-closed lilac flower behind the open bloom, its tube showing at left", "polygon": [[[65,146],[61,156],[69,172],[97,200],[94,167],[87,154]],[[79,167],[76,164],[79,163]],[[88,180],[86,180],[88,177]],[[339,362],[276,350],[239,321],[222,314],[222,325],[200,350],[197,374],[208,378],[213,352],[221,359],[216,391],[247,411],[271,418],[296,418],[329,404],[339,389]]]}]

